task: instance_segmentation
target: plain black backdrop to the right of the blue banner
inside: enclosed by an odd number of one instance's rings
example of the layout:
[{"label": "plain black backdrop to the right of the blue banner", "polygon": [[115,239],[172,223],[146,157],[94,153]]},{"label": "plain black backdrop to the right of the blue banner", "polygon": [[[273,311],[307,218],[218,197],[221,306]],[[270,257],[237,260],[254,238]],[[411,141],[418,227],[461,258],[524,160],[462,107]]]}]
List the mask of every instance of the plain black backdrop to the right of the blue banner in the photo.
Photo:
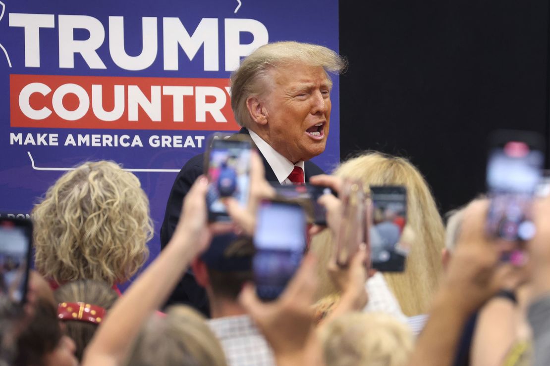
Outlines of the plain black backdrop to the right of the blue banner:
[{"label": "plain black backdrop to the right of the blue banner", "polygon": [[409,157],[442,212],[483,192],[489,131],[548,136],[548,12],[545,0],[340,0],[342,159]]}]

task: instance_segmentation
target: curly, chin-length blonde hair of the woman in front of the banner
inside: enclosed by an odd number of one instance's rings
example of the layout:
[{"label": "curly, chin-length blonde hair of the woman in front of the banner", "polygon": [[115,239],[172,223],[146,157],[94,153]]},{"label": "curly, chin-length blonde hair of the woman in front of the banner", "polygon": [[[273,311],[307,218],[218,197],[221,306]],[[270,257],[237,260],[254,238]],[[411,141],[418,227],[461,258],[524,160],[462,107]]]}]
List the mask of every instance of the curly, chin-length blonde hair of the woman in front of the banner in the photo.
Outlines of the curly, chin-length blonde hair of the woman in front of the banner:
[{"label": "curly, chin-length blonde hair of the woman in front of the banner", "polygon": [[149,256],[149,200],[139,179],[114,162],[85,162],[63,174],[32,218],[36,269],[59,284],[93,279],[113,285]]}]

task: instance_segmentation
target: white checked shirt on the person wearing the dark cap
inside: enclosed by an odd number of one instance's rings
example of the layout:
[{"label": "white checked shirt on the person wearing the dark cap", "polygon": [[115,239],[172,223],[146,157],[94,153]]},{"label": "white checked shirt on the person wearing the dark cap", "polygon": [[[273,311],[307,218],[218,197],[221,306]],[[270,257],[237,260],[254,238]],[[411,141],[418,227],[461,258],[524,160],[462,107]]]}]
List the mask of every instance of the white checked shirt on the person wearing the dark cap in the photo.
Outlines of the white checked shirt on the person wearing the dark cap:
[{"label": "white checked shirt on the person wearing the dark cap", "polygon": [[273,352],[248,315],[208,320],[230,366],[275,366]]}]

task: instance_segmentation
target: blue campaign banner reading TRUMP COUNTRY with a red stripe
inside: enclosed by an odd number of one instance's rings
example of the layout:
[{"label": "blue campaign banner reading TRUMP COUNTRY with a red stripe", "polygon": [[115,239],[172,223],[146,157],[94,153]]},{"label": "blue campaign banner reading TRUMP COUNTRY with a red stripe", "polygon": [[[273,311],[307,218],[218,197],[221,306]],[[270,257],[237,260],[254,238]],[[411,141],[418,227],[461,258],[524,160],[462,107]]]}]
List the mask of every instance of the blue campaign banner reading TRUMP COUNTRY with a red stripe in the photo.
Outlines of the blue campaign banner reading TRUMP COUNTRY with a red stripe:
[{"label": "blue campaign banner reading TRUMP COUNTRY with a red stripe", "polygon": [[[267,42],[338,51],[336,0],[0,1],[0,211],[27,215],[86,160],[139,177],[155,238],[175,176],[213,131],[237,131],[229,75]],[[339,83],[332,76],[326,151],[339,161]]]}]

